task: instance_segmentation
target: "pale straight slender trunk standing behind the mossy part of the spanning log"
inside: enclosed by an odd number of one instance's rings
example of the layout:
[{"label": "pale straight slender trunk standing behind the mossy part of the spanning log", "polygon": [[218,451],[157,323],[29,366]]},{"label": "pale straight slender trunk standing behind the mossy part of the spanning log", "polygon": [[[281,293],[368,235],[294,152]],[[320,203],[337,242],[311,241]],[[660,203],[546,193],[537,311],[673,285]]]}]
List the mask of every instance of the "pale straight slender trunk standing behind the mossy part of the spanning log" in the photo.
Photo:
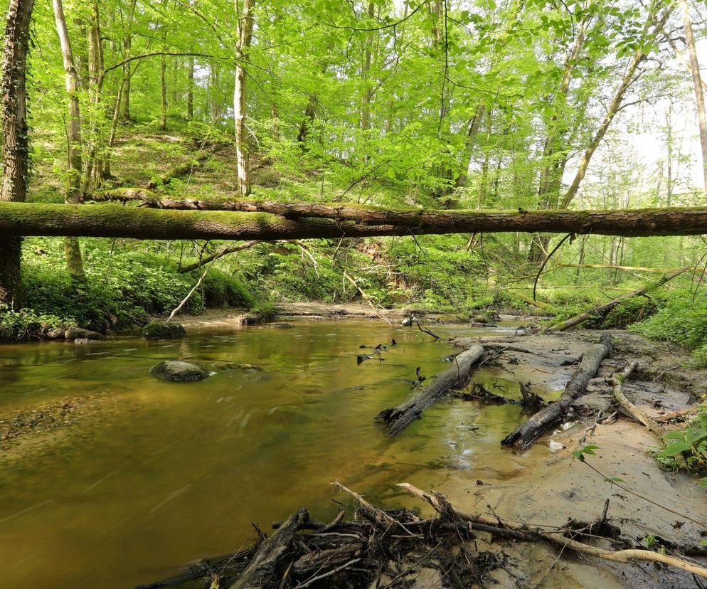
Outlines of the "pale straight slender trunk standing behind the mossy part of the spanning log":
[{"label": "pale straight slender trunk standing behind the mossy part of the spanning log", "polygon": [[[238,12],[238,0],[236,11]],[[235,88],[233,91],[233,117],[235,120],[235,152],[238,165],[238,191],[242,196],[250,194],[250,162],[248,161],[248,137],[245,129],[246,94],[245,94],[245,64],[248,63],[250,41],[252,40],[254,0],[243,0],[238,23],[238,64],[235,68]]]}]

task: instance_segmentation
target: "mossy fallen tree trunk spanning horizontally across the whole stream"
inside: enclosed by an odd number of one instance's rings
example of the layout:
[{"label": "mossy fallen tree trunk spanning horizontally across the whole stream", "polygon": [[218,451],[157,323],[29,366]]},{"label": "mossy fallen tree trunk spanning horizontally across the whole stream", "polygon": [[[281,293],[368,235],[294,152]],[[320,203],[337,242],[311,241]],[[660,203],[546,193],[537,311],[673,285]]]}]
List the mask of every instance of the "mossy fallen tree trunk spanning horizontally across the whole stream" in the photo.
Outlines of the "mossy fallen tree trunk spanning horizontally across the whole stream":
[{"label": "mossy fallen tree trunk spanning horizontally across the whole stream", "polygon": [[[164,203],[164,199],[160,201]],[[135,239],[261,240],[446,233],[576,233],[594,235],[701,235],[707,208],[619,211],[434,211],[369,206],[278,203],[280,213],[0,203],[0,235]],[[209,205],[211,206],[211,205]],[[260,206],[260,205],[258,205]],[[264,205],[263,205],[264,206]],[[189,208],[186,205],[183,208]],[[216,208],[213,206],[211,208]],[[276,208],[270,208],[275,211]],[[298,216],[288,210],[299,211]]]}]

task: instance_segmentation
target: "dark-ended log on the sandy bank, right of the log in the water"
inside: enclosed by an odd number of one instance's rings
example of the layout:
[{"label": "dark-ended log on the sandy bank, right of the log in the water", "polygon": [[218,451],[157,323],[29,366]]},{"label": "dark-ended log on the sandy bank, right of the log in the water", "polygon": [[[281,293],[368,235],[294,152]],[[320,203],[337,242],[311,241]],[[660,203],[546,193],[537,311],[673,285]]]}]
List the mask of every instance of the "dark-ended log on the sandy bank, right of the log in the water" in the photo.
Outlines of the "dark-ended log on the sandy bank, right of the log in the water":
[{"label": "dark-ended log on the sandy bank, right of the log in the water", "polygon": [[575,401],[587,392],[590,378],[596,375],[602,360],[611,353],[611,348],[610,335],[602,334],[599,343],[586,349],[582,354],[582,360],[560,398],[539,410],[526,423],[509,433],[501,440],[501,445],[525,450],[548,428],[563,420],[572,410]]}]

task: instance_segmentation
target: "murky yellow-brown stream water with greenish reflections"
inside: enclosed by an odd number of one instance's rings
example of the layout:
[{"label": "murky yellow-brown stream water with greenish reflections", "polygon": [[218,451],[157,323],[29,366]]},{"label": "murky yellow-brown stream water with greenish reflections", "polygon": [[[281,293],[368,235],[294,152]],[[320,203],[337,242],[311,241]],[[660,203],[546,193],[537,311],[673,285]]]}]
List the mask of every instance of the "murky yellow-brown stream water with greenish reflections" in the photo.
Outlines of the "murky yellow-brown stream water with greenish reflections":
[{"label": "murky yellow-brown stream water with greenish reflections", "polygon": [[[385,361],[356,365],[359,345],[391,336],[398,346]],[[102,394],[100,412],[26,447],[21,460],[0,451],[0,586],[149,583],[237,550],[252,521],[269,529],[301,504],[326,519],[337,509],[334,479],[383,506],[412,505],[395,491],[408,481],[470,508],[477,479],[522,477],[548,450],[501,449],[519,420],[516,406],[460,400],[438,403],[395,439],[383,435],[374,416],[410,394],[405,379],[416,366],[432,376],[448,366],[447,354],[449,346],[415,329],[346,320],[212,329],[178,342],[0,346],[0,419]],[[147,372],[176,358],[216,374],[164,383]],[[222,370],[224,361],[264,373]],[[518,393],[492,369],[475,378]]]}]

